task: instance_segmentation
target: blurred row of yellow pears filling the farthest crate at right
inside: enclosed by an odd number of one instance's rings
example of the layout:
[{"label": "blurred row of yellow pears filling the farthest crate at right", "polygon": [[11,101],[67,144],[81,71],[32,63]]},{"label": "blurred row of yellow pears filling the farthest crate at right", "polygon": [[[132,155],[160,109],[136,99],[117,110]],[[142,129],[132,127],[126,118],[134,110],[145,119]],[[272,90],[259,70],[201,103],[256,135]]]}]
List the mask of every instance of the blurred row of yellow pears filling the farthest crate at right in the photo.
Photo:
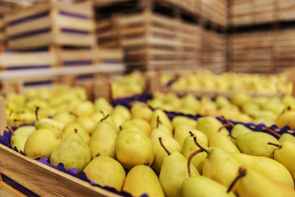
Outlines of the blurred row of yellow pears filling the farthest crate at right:
[{"label": "blurred row of yellow pears filling the farthest crate at right", "polygon": [[291,93],[292,82],[288,82],[288,74],[277,75],[247,74],[224,72],[214,74],[212,71],[183,71],[181,75],[168,73],[161,76],[161,84],[173,81],[172,90],[187,91],[245,91],[259,93]]}]

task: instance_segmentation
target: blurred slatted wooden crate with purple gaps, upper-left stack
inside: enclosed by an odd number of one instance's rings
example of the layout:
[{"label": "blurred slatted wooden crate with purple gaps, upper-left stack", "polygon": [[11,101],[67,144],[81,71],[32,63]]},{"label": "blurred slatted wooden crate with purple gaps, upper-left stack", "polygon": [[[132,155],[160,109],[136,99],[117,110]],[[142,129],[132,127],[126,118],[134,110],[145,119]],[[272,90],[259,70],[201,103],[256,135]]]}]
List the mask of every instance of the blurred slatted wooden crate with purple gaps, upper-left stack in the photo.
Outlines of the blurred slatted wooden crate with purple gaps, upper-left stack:
[{"label": "blurred slatted wooden crate with purple gaps, upper-left stack", "polygon": [[95,45],[91,4],[38,4],[6,14],[8,48]]}]

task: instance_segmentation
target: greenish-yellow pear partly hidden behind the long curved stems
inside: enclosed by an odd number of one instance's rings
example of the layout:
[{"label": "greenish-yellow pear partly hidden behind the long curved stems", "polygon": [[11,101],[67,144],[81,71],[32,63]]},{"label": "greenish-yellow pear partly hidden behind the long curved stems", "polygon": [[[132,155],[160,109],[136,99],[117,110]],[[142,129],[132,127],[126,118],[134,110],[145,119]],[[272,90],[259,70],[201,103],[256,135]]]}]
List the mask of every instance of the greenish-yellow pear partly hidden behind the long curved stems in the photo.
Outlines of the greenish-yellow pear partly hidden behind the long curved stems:
[{"label": "greenish-yellow pear partly hidden behind the long curved stems", "polygon": [[[183,145],[182,145],[182,149],[180,152],[183,155],[183,157],[185,157],[186,159],[189,159],[189,156],[193,152],[200,149],[198,146],[196,146],[196,144],[194,142],[194,136],[196,136],[196,134],[192,133],[191,131],[189,132],[189,134],[190,135],[187,136],[186,139],[184,140]],[[208,149],[208,146],[206,144],[204,144],[203,141],[201,141],[197,137],[196,137],[196,140],[199,142],[199,144],[204,149]],[[202,152],[191,159],[191,164],[199,171],[200,175],[203,174],[203,164],[204,164],[204,159],[206,158],[206,156],[207,156],[207,153]]]}]

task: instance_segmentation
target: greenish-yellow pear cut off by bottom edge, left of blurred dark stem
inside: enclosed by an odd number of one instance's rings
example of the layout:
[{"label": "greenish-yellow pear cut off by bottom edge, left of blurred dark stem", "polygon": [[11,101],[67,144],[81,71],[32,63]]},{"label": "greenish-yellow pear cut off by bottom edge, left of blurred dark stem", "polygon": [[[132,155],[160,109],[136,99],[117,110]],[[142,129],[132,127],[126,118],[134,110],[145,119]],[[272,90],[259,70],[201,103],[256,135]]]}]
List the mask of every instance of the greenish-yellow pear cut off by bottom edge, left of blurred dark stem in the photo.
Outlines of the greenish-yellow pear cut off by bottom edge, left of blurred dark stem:
[{"label": "greenish-yellow pear cut off by bottom edge, left of blurred dark stem", "polygon": [[184,197],[235,197],[233,192],[227,193],[227,187],[204,176],[195,176],[183,181]]}]

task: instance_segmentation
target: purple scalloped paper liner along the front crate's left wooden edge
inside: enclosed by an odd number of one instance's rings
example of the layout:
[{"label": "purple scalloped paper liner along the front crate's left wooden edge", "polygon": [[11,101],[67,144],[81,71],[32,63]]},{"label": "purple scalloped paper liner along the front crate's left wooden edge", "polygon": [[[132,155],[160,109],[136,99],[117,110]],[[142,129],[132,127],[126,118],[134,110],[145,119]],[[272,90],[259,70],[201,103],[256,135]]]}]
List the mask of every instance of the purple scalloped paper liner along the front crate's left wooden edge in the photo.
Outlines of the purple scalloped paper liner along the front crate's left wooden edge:
[{"label": "purple scalloped paper liner along the front crate's left wooden edge", "polygon": [[[24,124],[22,126],[25,126],[27,124]],[[15,131],[17,129],[17,127],[12,127],[12,130]],[[3,136],[0,135],[0,144],[3,144],[4,146],[7,146],[11,149],[14,149],[15,151],[23,154],[24,156],[26,156],[22,151],[18,151],[17,150],[17,147],[14,147],[12,148],[12,146],[10,145],[10,139],[12,137],[12,133],[10,131],[6,131],[4,130],[4,134]],[[66,170],[64,165],[62,163],[59,163],[57,166],[54,166],[54,165],[51,165],[49,162],[48,162],[48,159],[47,158],[43,158],[43,159],[40,159],[40,160],[37,160],[38,162],[42,163],[42,164],[45,164],[47,166],[50,166],[56,170],[59,170],[61,172],[64,172],[66,174],[69,174],[69,175],[72,175],[73,177],[76,177],[76,178],[79,178],[83,181],[86,181],[88,183],[90,183],[91,185],[94,185],[94,186],[98,186],[98,187],[101,187],[101,188],[104,188],[108,191],[111,191],[113,193],[116,193],[116,194],[119,194],[121,196],[125,196],[125,197],[132,197],[132,195],[130,195],[129,193],[126,193],[126,192],[123,192],[123,191],[117,191],[115,188],[112,188],[112,187],[108,187],[108,186],[105,186],[105,187],[102,187],[100,185],[98,185],[97,183],[94,183],[93,181],[90,181],[87,177],[86,177],[86,174],[84,172],[81,172],[80,174],[77,174],[77,169],[75,168],[72,168],[72,169],[69,169],[69,170]],[[9,183],[13,183],[13,185],[11,186],[15,186],[17,187],[16,189],[19,190],[19,189],[22,189],[22,185],[20,185],[18,187],[19,184],[17,183],[14,183],[14,182],[8,182]],[[10,184],[9,184],[10,185]],[[21,190],[19,190],[21,191]],[[21,191],[22,192],[22,191]],[[24,191],[24,192],[28,192],[28,191]],[[23,192],[23,193],[24,193]],[[35,194],[36,195],[36,194]],[[29,196],[29,195],[28,195]],[[146,194],[142,195],[141,197],[148,197]]]}]

